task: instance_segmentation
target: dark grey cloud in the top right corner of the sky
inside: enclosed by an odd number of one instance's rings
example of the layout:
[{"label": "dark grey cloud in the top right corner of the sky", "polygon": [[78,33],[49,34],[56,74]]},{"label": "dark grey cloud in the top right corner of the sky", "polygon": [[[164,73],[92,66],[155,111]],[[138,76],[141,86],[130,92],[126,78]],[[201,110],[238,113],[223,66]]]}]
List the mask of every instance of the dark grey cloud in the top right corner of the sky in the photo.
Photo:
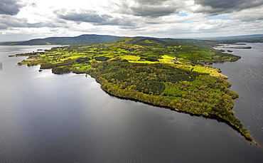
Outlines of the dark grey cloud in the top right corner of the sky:
[{"label": "dark grey cloud in the top right corner of the sky", "polygon": [[211,9],[199,12],[208,14],[220,14],[262,6],[263,0],[195,0],[195,4],[211,7]]}]

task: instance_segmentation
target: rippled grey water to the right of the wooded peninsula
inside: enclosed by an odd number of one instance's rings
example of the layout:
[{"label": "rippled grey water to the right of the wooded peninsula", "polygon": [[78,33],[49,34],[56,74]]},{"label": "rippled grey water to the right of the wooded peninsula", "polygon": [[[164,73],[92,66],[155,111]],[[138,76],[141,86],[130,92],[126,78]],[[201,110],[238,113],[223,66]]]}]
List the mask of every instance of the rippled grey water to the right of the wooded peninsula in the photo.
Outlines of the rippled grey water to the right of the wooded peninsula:
[{"label": "rippled grey water to the right of the wooded peninsula", "polygon": [[234,63],[216,63],[222,73],[229,76],[231,90],[240,94],[235,100],[235,116],[251,132],[257,142],[263,144],[263,43],[247,43],[247,45],[230,45],[228,47],[247,47],[252,49],[232,48],[233,54],[242,58]]}]

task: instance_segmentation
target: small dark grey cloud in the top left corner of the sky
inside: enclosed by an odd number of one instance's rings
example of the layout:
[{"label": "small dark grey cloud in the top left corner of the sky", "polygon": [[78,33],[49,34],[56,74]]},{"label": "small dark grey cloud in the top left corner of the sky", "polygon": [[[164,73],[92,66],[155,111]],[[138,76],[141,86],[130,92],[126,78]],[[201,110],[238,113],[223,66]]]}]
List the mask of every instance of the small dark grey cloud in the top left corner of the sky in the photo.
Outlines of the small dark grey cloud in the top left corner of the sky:
[{"label": "small dark grey cloud in the top left corner of the sky", "polygon": [[4,15],[16,15],[23,7],[23,4],[19,4],[18,0],[1,0],[0,1],[0,14]]}]

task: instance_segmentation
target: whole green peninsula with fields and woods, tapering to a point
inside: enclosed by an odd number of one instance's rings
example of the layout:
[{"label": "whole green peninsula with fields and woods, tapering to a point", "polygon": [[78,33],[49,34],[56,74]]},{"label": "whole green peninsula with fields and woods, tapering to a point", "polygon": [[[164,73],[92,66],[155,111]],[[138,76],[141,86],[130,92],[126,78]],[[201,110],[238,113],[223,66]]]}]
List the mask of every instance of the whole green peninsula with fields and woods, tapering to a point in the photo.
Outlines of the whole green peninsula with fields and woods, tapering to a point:
[{"label": "whole green peninsula with fields and woods, tapering to a point", "polygon": [[29,56],[18,65],[41,65],[40,72],[50,68],[55,74],[91,75],[102,90],[118,98],[226,122],[253,141],[232,111],[239,95],[228,89],[227,76],[205,65],[237,61],[240,56],[215,46],[209,41],[137,37],[17,56]]}]

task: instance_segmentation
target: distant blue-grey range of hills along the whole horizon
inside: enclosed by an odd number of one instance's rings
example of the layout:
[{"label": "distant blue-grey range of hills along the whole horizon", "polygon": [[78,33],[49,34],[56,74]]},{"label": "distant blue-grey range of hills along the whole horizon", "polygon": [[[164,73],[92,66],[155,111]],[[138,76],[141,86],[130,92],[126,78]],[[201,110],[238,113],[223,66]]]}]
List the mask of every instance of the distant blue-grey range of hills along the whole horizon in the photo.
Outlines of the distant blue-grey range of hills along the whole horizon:
[{"label": "distant blue-grey range of hills along the whole horizon", "polygon": [[[110,41],[117,41],[124,36],[110,36],[110,35],[97,35],[97,34],[82,34],[74,37],[48,37],[48,38],[35,38],[29,41],[12,41],[12,42],[0,42],[0,46],[34,46],[34,45],[81,45],[92,43],[105,43]],[[154,38],[146,36],[135,36],[134,38],[142,39],[156,39],[166,40],[168,38]],[[243,35],[243,36],[222,36],[222,37],[210,37],[210,38],[172,38],[178,40],[207,40],[214,43],[263,43],[263,34]]]}]

